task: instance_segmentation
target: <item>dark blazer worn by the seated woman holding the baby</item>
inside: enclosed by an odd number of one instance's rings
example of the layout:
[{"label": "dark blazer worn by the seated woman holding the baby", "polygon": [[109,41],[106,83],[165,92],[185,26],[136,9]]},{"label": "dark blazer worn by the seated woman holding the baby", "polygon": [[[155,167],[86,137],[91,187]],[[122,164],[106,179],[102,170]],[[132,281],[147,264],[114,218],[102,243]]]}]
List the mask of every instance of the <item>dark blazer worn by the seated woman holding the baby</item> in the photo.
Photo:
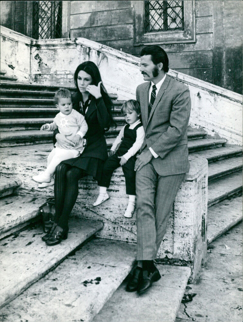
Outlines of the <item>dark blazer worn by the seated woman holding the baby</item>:
[{"label": "dark blazer worn by the seated woman holding the baby", "polygon": [[[80,113],[77,93],[73,94],[73,109]],[[110,116],[103,98],[96,99],[92,96],[91,103],[85,114],[85,120],[88,124],[88,131],[86,133],[87,146],[78,158],[95,157],[106,160],[108,154],[104,134],[105,129],[108,129],[110,126]],[[58,131],[54,132],[54,137],[56,133],[58,133]]]}]

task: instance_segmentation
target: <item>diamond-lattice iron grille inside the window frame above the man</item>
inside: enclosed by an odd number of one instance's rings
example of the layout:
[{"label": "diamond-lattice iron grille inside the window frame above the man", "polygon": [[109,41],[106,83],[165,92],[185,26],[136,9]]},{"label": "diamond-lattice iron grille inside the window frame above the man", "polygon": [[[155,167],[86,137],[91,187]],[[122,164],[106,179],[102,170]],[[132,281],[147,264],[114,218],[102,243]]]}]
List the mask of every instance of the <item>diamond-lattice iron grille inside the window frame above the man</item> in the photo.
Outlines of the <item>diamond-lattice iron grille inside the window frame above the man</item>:
[{"label": "diamond-lattice iron grille inside the window frame above the man", "polygon": [[183,1],[144,1],[145,33],[184,30]]}]

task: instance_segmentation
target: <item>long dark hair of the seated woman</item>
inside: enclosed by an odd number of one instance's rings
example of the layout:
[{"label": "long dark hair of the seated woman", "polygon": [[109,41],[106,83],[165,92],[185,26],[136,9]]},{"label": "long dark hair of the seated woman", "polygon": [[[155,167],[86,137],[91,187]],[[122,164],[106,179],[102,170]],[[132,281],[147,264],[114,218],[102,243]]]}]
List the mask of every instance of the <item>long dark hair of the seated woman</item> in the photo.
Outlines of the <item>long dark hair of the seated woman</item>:
[{"label": "long dark hair of the seated woman", "polygon": [[[82,100],[82,94],[80,93],[79,91],[79,87],[78,87],[78,74],[79,74],[79,71],[85,71],[87,74],[89,74],[91,77],[92,77],[92,85],[95,85],[95,86],[98,86],[98,83],[101,80],[101,76],[100,76],[100,73],[99,73],[99,70],[98,70],[98,67],[96,66],[96,64],[94,62],[83,62],[82,64],[80,64],[75,73],[74,73],[74,83],[76,85],[76,88],[77,88],[77,92],[78,92],[78,99],[79,101]],[[110,116],[110,126],[111,127],[116,127],[117,124],[116,122],[114,121],[113,119],[113,115],[112,115],[112,110],[114,111],[114,105],[111,101],[111,99],[109,98],[109,95],[107,93],[107,90],[105,89],[103,83],[100,84],[100,93],[101,93],[101,96],[104,100],[104,103],[106,105],[106,108],[107,108],[107,111],[109,113],[109,116]]]}]

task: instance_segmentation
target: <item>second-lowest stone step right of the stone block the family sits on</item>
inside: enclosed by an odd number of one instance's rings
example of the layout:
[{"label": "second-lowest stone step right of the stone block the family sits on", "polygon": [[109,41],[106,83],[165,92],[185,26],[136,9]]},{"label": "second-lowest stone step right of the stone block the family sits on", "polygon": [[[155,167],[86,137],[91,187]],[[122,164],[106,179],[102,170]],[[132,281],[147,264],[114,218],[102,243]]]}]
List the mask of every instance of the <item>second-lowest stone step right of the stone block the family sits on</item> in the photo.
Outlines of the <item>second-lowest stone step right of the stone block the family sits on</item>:
[{"label": "second-lowest stone step right of the stone block the family sits on", "polygon": [[208,207],[242,192],[242,171],[210,181],[208,184]]}]

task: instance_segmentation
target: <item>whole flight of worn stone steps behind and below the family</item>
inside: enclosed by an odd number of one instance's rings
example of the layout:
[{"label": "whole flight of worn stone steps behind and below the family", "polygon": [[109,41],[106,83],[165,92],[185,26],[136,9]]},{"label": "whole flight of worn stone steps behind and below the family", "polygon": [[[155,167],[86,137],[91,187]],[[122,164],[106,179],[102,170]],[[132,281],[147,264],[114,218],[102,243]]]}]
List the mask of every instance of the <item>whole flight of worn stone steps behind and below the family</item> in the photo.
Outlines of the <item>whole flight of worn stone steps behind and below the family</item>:
[{"label": "whole flight of worn stone steps behind and below the family", "polygon": [[[102,221],[70,218],[66,241],[48,247],[38,207],[50,188],[36,189],[33,169],[46,163],[52,133],[38,129],[57,113],[56,87],[1,81],[1,292],[2,321],[98,321],[98,312],[126,278],[135,260],[135,244],[96,238]],[[73,88],[71,88],[73,90]],[[106,134],[111,146],[123,118],[113,99],[117,128]],[[242,147],[188,129],[189,157],[208,160],[208,243],[242,220]],[[37,171],[37,170],[36,170]],[[21,185],[22,182],[22,185]],[[162,278],[138,297],[123,292],[124,321],[174,321],[190,276],[188,267],[157,265]],[[163,297],[161,297],[163,294]],[[159,300],[158,300],[159,299]],[[141,308],[127,316],[131,300]],[[102,315],[101,315],[102,316]]]}]

